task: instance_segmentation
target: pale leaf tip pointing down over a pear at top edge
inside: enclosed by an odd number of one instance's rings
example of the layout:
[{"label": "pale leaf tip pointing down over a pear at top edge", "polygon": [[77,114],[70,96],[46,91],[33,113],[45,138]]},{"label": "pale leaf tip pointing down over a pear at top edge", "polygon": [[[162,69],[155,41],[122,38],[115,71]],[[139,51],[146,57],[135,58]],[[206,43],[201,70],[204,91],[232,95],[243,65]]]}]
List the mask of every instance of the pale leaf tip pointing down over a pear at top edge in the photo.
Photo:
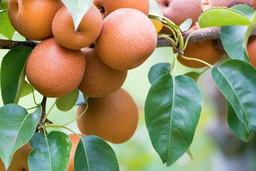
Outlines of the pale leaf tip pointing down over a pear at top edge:
[{"label": "pale leaf tip pointing down over a pear at top edge", "polygon": [[85,13],[91,8],[93,0],[61,0],[64,5],[68,8],[74,21],[74,30],[77,29]]}]

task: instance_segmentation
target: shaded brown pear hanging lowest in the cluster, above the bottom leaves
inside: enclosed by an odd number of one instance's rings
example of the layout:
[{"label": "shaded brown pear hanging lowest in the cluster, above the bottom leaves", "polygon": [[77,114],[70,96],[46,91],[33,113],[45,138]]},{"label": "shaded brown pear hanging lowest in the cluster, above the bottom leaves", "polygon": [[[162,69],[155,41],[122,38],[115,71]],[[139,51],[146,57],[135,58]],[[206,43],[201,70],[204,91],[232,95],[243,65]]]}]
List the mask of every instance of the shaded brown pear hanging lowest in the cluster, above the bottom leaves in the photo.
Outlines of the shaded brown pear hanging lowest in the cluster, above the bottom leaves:
[{"label": "shaded brown pear hanging lowest in the cluster, above the bottom leaves", "polygon": [[[139,120],[139,112],[128,92],[124,89],[101,98],[88,98],[88,110],[77,120],[77,125],[85,135],[97,135],[105,141],[120,144],[134,134]],[[85,106],[77,108],[77,116]]]}]

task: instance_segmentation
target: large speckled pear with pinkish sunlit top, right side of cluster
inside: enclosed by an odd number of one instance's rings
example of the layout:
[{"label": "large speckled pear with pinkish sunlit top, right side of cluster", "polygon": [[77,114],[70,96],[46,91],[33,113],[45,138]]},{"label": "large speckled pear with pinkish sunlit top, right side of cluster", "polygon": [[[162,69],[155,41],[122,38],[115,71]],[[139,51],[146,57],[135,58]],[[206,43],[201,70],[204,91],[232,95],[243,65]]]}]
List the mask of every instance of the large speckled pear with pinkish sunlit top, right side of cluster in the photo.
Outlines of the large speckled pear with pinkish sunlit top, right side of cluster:
[{"label": "large speckled pear with pinkish sunlit top, right side of cluster", "polygon": [[139,10],[122,8],[103,20],[96,51],[108,66],[125,71],[145,62],[156,45],[157,33],[151,20]]}]

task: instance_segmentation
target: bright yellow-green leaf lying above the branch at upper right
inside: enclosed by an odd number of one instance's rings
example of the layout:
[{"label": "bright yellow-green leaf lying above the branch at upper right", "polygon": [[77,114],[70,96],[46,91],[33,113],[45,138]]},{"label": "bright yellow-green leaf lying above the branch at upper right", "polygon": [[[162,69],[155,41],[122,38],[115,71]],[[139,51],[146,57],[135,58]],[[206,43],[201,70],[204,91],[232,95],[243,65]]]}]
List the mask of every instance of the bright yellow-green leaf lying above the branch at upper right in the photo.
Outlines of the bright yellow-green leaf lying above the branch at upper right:
[{"label": "bright yellow-green leaf lying above the branch at upper right", "polygon": [[199,18],[200,28],[249,25],[250,22],[240,11],[226,7],[206,10]]}]

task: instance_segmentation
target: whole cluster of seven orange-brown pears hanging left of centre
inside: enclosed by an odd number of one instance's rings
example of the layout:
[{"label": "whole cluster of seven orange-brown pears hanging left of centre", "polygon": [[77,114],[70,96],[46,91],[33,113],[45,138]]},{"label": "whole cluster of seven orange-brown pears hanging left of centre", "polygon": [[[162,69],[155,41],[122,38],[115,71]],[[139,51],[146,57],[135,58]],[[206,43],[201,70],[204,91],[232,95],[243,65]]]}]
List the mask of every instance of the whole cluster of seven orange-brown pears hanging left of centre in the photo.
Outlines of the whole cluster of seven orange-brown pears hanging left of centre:
[{"label": "whole cluster of seven orange-brown pears hanging left of centre", "polygon": [[[53,98],[79,88],[89,97],[87,112],[77,120],[82,134],[112,143],[129,140],[139,112],[121,87],[128,70],[142,65],[156,49],[149,1],[96,0],[77,29],[61,0],[10,0],[8,5],[15,30],[41,41],[25,67],[31,85]],[[77,115],[85,108],[79,106]]]}]

